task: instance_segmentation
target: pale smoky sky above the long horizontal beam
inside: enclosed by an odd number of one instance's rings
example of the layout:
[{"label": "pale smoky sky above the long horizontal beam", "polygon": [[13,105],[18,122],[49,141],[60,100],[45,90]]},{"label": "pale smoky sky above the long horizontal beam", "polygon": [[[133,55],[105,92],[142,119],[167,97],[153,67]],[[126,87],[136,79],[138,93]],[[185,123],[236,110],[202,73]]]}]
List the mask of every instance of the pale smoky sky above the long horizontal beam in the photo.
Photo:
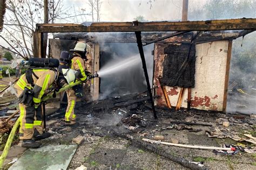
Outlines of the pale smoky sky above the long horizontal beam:
[{"label": "pale smoky sky above the long horizontal beam", "polygon": [[[101,22],[131,22],[137,16],[143,16],[146,20],[179,20],[181,19],[182,0],[100,0]],[[90,11],[89,5],[84,0],[67,1],[64,4],[74,5],[77,8],[85,8]],[[205,0],[190,0],[189,5],[204,3]],[[90,17],[87,19],[91,20]]]}]

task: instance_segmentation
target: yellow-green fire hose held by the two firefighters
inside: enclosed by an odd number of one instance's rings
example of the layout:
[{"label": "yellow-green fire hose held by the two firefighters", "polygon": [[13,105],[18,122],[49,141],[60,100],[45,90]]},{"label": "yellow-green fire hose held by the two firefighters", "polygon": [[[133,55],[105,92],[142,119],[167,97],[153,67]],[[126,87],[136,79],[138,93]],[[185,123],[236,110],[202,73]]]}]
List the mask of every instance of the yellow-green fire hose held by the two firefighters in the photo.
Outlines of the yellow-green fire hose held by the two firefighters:
[{"label": "yellow-green fire hose held by the two firefighters", "polygon": [[[94,75],[90,75],[90,76],[88,76],[88,79],[87,79],[87,80],[93,79],[93,78],[98,77],[98,76],[99,76],[99,75],[98,75],[97,73],[94,74]],[[87,81],[87,80],[86,80],[86,81]],[[67,89],[70,89],[70,88],[72,88],[73,86],[76,86],[76,85],[78,85],[78,84],[80,84],[80,83],[82,83],[82,81],[78,80],[78,81],[76,81],[76,82],[74,82],[74,83],[68,84],[68,85],[66,85],[65,87],[59,89],[59,90],[56,92],[56,94],[62,93],[63,91],[65,91],[65,90],[67,90]],[[43,97],[41,101],[42,101],[42,102],[46,102],[46,101],[49,100],[50,98],[53,98],[53,92],[50,93],[50,94],[48,94],[48,95],[46,95],[45,97]],[[44,108],[44,109],[45,109],[45,108]],[[45,113],[44,113],[43,116],[45,117]],[[13,127],[12,130],[11,130],[11,133],[10,133],[10,135],[9,135],[9,137],[8,137],[8,140],[6,141],[6,144],[5,144],[3,153],[2,153],[2,155],[1,155],[1,157],[0,157],[0,168],[3,167],[4,160],[5,160],[6,156],[8,155],[9,149],[10,149],[10,147],[11,147],[12,140],[14,139],[15,132],[17,131],[18,126],[19,126],[19,121],[20,121],[20,120],[19,120],[19,118],[18,118],[17,121],[16,121],[15,124],[14,124],[14,127]]]}]

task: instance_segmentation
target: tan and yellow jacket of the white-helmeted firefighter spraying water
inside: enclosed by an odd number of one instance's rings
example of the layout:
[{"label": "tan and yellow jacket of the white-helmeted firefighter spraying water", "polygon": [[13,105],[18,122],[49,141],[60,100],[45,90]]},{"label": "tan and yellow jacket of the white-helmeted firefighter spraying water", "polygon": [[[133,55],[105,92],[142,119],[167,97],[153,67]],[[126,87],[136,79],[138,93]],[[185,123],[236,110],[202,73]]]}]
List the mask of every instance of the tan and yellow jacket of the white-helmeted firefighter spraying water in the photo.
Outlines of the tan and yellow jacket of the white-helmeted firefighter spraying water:
[{"label": "tan and yellow jacket of the white-helmeted firefighter spraying water", "polygon": [[75,69],[79,73],[78,78],[80,80],[85,81],[87,79],[85,74],[85,60],[82,59],[80,54],[74,53],[74,56],[71,59],[71,69]]}]

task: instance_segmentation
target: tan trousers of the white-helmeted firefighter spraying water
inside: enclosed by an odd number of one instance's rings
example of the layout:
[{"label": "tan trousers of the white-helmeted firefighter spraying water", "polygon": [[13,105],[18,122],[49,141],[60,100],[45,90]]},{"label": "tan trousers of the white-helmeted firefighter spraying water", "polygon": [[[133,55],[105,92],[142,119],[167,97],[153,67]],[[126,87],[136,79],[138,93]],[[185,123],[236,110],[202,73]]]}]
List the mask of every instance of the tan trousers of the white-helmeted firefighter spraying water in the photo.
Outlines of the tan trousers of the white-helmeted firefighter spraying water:
[{"label": "tan trousers of the white-helmeted firefighter spraying water", "polygon": [[76,121],[76,115],[75,115],[75,105],[76,105],[76,94],[75,91],[70,88],[66,90],[66,94],[68,96],[68,108],[66,108],[66,114],[65,114],[65,121]]}]

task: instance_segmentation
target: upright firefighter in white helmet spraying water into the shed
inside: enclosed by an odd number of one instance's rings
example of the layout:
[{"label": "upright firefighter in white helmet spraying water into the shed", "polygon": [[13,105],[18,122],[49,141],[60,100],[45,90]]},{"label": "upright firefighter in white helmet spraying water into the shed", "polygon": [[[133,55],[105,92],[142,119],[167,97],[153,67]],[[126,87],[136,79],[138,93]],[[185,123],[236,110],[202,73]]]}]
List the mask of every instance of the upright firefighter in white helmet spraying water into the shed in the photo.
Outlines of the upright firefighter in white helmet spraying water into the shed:
[{"label": "upright firefighter in white helmet spraying water into the shed", "polygon": [[[86,60],[86,44],[83,42],[78,42],[74,49],[70,49],[73,51],[71,56],[70,68],[76,70],[78,72],[78,78],[82,81],[87,79],[85,74],[85,60]],[[75,92],[76,91],[76,92]],[[65,123],[67,125],[72,125],[76,123],[76,115],[75,115],[75,105],[77,100],[77,95],[82,94],[81,91],[74,89],[66,90],[66,94],[68,96],[68,108],[66,108],[65,113]]]}]

